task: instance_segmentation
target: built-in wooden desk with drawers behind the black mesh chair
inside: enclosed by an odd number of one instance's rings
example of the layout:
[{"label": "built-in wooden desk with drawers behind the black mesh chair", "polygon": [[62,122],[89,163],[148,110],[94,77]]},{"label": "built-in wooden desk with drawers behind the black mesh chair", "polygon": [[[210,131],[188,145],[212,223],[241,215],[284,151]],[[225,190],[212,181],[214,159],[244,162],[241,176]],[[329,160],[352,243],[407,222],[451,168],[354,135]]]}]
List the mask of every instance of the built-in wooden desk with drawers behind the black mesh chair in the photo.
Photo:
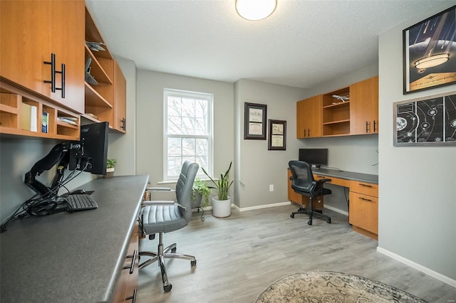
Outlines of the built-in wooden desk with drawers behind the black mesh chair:
[{"label": "built-in wooden desk with drawers behind the black mesh chair", "polygon": [[[353,230],[378,239],[378,175],[335,169],[312,169],[312,172],[316,180],[331,179],[328,183],[350,189],[348,218]],[[290,176],[288,171],[288,179]],[[306,197],[293,191],[290,180],[288,193],[289,201],[306,205]],[[323,197],[318,201],[323,203]]]}]

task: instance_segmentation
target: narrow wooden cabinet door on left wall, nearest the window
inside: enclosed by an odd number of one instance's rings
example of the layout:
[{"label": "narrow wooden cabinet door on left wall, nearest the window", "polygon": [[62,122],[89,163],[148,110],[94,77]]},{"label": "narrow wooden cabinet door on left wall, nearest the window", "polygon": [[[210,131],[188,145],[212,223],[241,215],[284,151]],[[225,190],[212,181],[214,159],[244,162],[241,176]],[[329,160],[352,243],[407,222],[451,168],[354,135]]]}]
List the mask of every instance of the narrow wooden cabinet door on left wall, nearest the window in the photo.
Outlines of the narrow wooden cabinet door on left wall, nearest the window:
[{"label": "narrow wooden cabinet door on left wall, nearest the window", "polygon": [[120,132],[126,131],[126,114],[127,114],[127,82],[123,76],[122,70],[114,61],[114,129]]}]

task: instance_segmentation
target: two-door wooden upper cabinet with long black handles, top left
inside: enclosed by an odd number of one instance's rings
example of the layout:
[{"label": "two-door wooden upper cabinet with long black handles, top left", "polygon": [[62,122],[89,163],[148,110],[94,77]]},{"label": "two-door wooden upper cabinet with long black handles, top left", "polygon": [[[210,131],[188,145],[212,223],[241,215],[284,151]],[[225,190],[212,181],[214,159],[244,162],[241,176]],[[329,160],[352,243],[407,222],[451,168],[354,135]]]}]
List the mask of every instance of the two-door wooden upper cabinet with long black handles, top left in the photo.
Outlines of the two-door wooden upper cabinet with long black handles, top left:
[{"label": "two-door wooden upper cabinet with long black handles, top left", "polygon": [[[5,80],[83,112],[84,1],[0,1],[1,69]],[[52,55],[56,73],[52,73]],[[65,64],[65,73],[62,71]],[[59,73],[60,72],[60,73]],[[63,79],[62,76],[65,76]],[[56,88],[50,81],[55,76]]]}]

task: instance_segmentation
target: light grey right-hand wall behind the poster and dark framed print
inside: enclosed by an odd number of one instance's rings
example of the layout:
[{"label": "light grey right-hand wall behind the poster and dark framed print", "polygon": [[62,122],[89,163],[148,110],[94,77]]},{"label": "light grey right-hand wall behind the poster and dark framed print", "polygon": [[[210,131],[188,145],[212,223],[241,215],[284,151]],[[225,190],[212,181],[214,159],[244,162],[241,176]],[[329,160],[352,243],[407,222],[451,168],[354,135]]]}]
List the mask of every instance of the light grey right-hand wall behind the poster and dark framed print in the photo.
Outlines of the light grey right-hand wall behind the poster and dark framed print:
[{"label": "light grey right-hand wall behind the poster and dark framed print", "polygon": [[456,89],[403,95],[403,29],[452,5],[442,2],[379,38],[378,250],[456,287],[456,147],[393,146],[393,102]]}]

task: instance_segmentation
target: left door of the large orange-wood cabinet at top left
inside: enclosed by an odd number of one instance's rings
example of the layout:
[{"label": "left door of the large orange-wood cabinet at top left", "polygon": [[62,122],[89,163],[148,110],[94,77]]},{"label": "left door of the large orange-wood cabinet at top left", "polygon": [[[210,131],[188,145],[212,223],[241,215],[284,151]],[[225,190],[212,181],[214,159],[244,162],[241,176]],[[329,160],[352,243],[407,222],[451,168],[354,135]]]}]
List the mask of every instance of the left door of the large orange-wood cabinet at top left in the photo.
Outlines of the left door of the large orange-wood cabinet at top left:
[{"label": "left door of the large orange-wood cabinet at top left", "polygon": [[46,95],[51,85],[51,1],[0,1],[1,76]]}]

